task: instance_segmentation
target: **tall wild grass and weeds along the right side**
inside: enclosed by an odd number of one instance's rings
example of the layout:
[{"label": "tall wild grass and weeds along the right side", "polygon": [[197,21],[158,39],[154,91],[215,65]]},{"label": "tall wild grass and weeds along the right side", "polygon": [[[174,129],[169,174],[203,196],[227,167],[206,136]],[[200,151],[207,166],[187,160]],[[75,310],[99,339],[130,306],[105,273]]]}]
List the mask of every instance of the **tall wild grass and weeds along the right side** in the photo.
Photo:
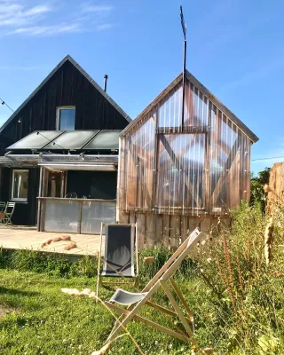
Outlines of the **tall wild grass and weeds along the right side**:
[{"label": "tall wild grass and weeds along the right side", "polygon": [[[283,214],[274,215],[272,223],[260,205],[243,202],[233,213],[232,233],[215,231],[209,261],[199,261],[205,281],[209,280],[210,292],[203,302],[219,351],[284,353],[282,229]],[[209,333],[205,336],[212,341]]]}]

